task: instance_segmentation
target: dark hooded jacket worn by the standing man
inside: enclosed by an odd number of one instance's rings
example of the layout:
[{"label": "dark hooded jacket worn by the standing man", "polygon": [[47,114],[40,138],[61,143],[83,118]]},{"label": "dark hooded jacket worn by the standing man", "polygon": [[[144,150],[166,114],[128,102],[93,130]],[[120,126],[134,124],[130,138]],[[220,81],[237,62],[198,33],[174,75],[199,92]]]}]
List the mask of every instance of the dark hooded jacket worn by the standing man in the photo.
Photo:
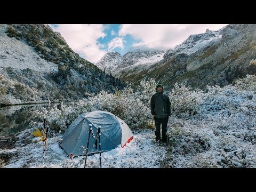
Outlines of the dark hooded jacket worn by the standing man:
[{"label": "dark hooded jacket worn by the standing man", "polygon": [[164,89],[158,93],[156,88],[156,93],[151,97],[150,107],[151,114],[156,115],[157,118],[171,116],[171,102]]}]

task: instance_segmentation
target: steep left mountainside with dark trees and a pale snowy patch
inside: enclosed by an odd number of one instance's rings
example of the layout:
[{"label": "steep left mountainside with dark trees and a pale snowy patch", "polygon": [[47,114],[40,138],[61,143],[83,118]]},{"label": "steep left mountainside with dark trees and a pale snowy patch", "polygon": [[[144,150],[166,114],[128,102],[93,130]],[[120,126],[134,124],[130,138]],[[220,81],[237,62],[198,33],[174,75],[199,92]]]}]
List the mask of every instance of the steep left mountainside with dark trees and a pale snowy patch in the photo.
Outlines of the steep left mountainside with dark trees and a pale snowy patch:
[{"label": "steep left mountainside with dark trees and a pale snowy patch", "polygon": [[0,105],[77,100],[123,86],[47,25],[0,25]]}]

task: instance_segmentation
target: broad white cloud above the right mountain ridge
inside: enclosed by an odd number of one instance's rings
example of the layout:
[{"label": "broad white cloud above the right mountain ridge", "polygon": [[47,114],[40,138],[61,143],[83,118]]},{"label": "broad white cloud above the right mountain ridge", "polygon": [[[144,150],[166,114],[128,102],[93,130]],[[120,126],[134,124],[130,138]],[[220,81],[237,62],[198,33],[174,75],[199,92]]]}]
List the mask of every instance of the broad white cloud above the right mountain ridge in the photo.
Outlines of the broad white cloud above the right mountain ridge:
[{"label": "broad white cloud above the right mountain ridge", "polygon": [[131,35],[139,43],[134,47],[170,49],[181,44],[189,35],[205,33],[206,29],[218,30],[226,24],[124,24],[119,36]]}]

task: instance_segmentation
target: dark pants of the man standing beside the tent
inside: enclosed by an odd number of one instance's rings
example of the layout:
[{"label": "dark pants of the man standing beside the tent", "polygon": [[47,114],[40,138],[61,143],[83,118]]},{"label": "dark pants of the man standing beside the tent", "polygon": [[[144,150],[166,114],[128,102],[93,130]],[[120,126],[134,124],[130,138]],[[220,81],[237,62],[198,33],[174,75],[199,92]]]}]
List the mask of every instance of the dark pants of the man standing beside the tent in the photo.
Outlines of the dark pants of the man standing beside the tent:
[{"label": "dark pants of the man standing beside the tent", "polygon": [[168,123],[169,116],[164,118],[156,118],[155,117],[155,125],[156,125],[156,141],[161,141],[161,132],[160,132],[160,126],[162,124],[162,141],[166,142],[166,132],[167,132],[167,123]]}]

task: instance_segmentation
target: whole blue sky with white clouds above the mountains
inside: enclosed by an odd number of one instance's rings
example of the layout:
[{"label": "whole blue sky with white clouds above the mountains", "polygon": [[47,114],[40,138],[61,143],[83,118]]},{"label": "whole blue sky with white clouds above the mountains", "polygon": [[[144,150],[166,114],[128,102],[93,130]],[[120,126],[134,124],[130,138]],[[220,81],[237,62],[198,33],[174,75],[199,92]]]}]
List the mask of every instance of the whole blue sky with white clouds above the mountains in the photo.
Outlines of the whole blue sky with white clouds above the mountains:
[{"label": "whole blue sky with white clouds above the mountains", "polygon": [[52,24],[82,58],[96,63],[109,51],[167,50],[189,35],[218,30],[227,24]]}]

